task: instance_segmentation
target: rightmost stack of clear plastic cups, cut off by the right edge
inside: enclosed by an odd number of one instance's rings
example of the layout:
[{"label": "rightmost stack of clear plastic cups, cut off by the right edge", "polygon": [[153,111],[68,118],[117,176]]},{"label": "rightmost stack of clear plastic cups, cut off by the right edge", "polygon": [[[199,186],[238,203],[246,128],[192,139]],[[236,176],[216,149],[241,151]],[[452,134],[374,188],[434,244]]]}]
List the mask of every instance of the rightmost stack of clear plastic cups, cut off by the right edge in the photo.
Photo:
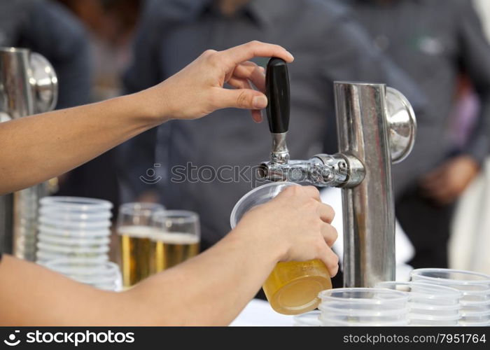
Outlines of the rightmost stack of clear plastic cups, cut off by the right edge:
[{"label": "rightmost stack of clear plastic cups, cut off by the right edge", "polygon": [[459,325],[490,325],[490,276],[455,269],[414,269],[412,281],[456,288],[463,296]]}]

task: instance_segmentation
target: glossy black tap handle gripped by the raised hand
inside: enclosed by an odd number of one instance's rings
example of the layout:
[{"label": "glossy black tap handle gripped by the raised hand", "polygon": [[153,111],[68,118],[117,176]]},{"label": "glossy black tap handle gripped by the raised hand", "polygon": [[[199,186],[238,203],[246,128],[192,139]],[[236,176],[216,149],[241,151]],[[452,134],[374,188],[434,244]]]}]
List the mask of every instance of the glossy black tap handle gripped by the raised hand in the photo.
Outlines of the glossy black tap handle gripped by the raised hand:
[{"label": "glossy black tap handle gripped by the raised hand", "polygon": [[267,95],[267,120],[273,134],[287,132],[289,128],[289,75],[283,59],[272,57],[265,73]]}]

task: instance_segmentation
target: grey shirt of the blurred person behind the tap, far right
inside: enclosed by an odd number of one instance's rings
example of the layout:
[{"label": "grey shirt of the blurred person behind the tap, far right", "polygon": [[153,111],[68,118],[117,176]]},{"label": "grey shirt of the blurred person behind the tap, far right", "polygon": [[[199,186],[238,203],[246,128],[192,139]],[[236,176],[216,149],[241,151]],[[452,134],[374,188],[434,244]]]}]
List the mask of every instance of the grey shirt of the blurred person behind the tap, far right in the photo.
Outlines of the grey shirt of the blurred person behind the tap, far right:
[{"label": "grey shirt of the blurred person behind the tap, far right", "polygon": [[[438,165],[454,151],[449,140],[449,115],[458,73],[468,74],[481,101],[477,125],[461,151],[481,162],[490,149],[490,45],[470,0],[351,0],[373,45],[418,83],[427,97],[418,118],[419,133],[412,155],[394,168],[403,172]],[[422,169],[419,169],[422,170]]]}]

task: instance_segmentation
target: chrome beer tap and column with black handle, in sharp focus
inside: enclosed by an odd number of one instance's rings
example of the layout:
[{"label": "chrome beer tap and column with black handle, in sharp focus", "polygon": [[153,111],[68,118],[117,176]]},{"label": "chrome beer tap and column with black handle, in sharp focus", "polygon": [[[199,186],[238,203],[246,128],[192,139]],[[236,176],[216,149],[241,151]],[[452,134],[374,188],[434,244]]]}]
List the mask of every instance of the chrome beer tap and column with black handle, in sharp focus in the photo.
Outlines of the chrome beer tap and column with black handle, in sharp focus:
[{"label": "chrome beer tap and column with black handle, in sharp focus", "polygon": [[288,68],[267,64],[269,162],[258,176],[270,181],[342,188],[344,286],[372,287],[395,279],[395,206],[391,164],[409,155],[416,120],[412,106],[384,84],[335,82],[339,153],[290,160],[286,146],[290,94]]}]

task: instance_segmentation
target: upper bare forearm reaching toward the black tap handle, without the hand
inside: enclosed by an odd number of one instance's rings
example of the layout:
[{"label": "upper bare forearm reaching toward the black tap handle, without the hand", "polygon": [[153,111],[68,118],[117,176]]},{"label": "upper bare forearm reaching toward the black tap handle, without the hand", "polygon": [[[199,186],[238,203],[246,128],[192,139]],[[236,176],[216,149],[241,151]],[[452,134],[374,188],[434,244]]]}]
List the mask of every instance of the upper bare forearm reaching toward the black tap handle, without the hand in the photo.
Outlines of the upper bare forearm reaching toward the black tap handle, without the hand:
[{"label": "upper bare forearm reaching toward the black tap handle, without the hand", "polygon": [[1,123],[0,193],[63,174],[158,125],[141,100],[132,94]]}]

